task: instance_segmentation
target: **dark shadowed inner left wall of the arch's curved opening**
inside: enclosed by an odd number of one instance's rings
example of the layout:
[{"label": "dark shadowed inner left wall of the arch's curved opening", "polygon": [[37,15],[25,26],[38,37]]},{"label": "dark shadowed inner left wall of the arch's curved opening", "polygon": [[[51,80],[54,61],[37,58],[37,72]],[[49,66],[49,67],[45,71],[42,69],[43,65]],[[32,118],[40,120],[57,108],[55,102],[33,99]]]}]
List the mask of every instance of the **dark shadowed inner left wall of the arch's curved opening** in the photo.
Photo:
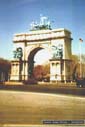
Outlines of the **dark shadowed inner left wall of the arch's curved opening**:
[{"label": "dark shadowed inner left wall of the arch's curved opening", "polygon": [[34,69],[34,57],[35,54],[39,51],[43,49],[42,47],[38,47],[35,48],[34,50],[32,50],[28,56],[28,78],[33,78],[33,69]]}]

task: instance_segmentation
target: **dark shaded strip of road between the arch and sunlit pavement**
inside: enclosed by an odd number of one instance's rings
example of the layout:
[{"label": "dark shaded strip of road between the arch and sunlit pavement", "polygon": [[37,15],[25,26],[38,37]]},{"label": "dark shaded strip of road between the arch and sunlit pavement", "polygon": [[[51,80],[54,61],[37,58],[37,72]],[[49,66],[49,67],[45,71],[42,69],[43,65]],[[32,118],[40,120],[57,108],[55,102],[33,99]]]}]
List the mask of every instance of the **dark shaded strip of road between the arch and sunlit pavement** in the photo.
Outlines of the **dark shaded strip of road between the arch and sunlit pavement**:
[{"label": "dark shaded strip of road between the arch and sunlit pavement", "polygon": [[78,88],[76,85],[70,84],[37,84],[37,85],[20,85],[7,84],[1,85],[0,90],[29,91],[41,93],[68,94],[75,96],[85,96],[85,87]]}]

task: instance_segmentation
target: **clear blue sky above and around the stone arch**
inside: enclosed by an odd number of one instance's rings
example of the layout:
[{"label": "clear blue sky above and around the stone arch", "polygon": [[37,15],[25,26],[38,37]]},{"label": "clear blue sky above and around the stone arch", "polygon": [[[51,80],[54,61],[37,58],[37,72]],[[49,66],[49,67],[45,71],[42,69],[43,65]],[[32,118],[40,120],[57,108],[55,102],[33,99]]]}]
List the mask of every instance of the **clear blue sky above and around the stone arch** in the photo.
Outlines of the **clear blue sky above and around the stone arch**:
[{"label": "clear blue sky above and around the stone arch", "polygon": [[40,14],[49,17],[52,28],[72,33],[72,52],[79,53],[79,38],[85,54],[85,0],[0,0],[0,57],[12,58],[13,34],[28,32]]}]

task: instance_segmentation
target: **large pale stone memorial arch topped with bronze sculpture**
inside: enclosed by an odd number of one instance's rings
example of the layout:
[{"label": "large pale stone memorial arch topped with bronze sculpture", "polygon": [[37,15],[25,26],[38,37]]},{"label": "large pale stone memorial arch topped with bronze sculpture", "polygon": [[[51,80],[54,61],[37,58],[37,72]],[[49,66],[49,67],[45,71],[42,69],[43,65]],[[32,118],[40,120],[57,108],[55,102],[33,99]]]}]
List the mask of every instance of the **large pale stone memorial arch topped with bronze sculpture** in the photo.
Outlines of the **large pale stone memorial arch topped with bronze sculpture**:
[{"label": "large pale stone memorial arch topped with bronze sculpture", "polygon": [[28,33],[14,35],[10,80],[28,80],[32,76],[34,56],[41,49],[51,54],[50,81],[71,80],[71,32],[64,28],[51,29],[44,22],[32,27]]}]

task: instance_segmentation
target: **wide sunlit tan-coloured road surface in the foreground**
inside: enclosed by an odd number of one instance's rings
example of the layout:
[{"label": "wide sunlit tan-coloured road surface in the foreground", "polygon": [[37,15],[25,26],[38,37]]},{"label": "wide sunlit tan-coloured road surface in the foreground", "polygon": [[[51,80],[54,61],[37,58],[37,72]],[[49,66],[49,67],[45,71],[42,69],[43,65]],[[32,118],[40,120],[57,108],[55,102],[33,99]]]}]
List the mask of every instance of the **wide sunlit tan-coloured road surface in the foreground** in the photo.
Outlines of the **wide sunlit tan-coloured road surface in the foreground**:
[{"label": "wide sunlit tan-coloured road surface in the foreground", "polygon": [[43,124],[43,120],[85,120],[85,98],[0,90],[2,125]]}]

